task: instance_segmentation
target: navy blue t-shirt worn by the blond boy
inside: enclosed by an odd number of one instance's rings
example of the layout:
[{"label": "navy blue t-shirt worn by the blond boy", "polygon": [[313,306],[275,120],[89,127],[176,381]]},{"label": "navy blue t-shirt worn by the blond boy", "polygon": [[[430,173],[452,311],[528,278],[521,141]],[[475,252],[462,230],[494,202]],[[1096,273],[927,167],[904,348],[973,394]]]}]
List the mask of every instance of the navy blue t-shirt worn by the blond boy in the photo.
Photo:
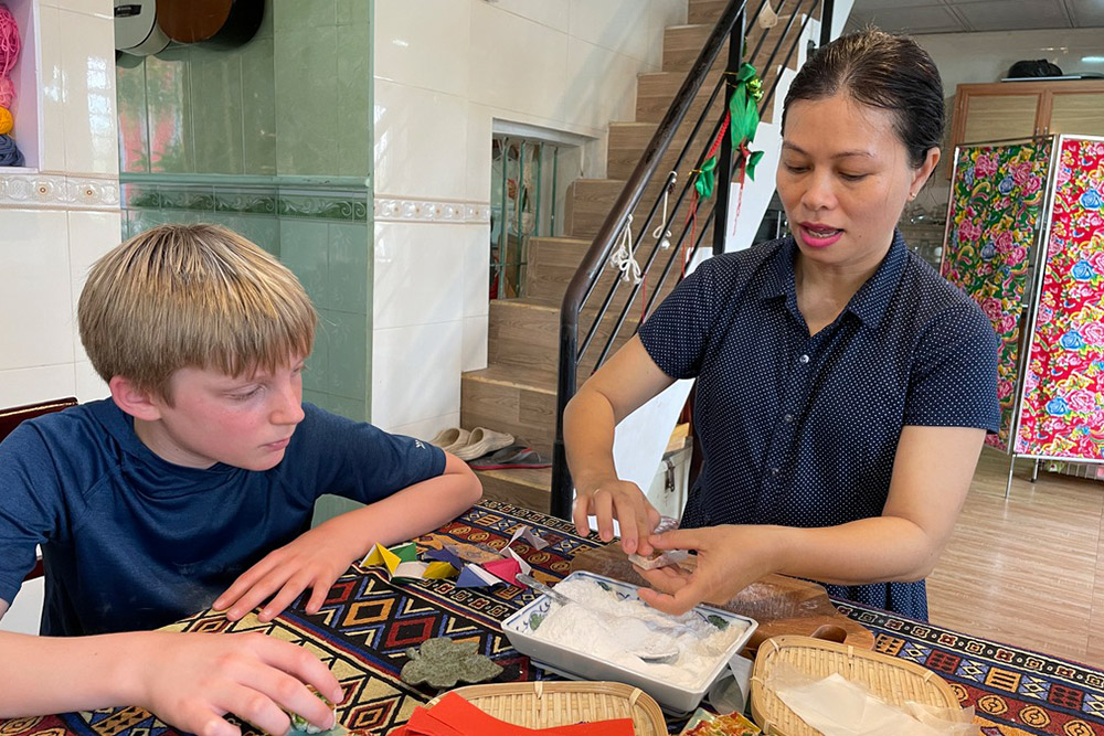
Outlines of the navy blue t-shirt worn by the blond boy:
[{"label": "navy blue t-shirt worn by the blond boy", "polygon": [[42,634],[164,626],[305,532],[323,493],[371,503],[444,472],[428,442],[304,412],[265,471],[167,462],[110,399],[24,422],[0,445],[0,599],[41,544]]}]

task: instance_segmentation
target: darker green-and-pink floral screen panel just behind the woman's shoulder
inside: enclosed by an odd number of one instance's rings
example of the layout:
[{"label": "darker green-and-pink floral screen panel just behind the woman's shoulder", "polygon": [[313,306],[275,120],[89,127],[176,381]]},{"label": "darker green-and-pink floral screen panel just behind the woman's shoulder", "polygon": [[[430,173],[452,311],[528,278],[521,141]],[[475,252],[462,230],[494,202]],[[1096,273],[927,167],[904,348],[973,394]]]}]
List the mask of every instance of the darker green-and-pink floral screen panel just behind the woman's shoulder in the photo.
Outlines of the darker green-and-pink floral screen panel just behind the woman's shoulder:
[{"label": "darker green-and-pink floral screen panel just behind the woman's shoulder", "polygon": [[940,273],[981,306],[1000,338],[1000,431],[986,442],[1001,450],[1013,420],[1020,313],[1051,148],[1050,140],[960,147],[955,159]]}]

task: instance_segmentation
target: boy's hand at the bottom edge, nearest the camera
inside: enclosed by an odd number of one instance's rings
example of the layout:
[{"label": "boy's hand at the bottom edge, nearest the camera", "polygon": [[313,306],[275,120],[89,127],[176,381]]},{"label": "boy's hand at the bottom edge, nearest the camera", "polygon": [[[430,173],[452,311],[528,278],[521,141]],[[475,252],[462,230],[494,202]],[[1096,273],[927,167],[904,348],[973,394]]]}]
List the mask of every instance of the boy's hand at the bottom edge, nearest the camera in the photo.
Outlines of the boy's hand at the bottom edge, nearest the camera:
[{"label": "boy's hand at the bottom edge, nearest the camera", "polygon": [[[298,713],[319,728],[333,726],[333,712],[307,689],[331,702],[344,693],[337,678],[306,649],[259,633],[150,632],[156,652],[136,673],[142,707],[199,736],[241,736],[223,716],[233,713],[263,732],[286,734]],[[306,683],[306,684],[305,684]]]}]

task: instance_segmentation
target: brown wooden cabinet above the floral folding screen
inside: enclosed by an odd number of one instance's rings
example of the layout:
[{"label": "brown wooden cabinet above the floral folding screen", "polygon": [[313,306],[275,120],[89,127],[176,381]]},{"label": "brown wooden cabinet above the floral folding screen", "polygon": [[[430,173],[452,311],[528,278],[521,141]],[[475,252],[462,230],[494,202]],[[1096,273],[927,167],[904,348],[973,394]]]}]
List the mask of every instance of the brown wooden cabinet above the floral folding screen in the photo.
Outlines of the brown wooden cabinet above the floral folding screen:
[{"label": "brown wooden cabinet above the floral folding screen", "polygon": [[1104,79],[960,84],[944,156],[959,143],[1063,132],[1104,136]]}]

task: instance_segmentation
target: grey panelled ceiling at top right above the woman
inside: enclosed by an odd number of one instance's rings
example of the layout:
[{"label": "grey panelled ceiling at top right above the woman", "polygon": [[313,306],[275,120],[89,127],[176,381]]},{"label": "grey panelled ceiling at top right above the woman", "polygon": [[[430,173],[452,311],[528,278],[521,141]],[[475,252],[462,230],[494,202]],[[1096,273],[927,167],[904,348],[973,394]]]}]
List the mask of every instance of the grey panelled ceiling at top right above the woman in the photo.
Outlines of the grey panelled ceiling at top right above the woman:
[{"label": "grey panelled ceiling at top right above the woman", "polygon": [[1104,0],[854,0],[846,30],[868,24],[911,34],[1100,28]]}]

